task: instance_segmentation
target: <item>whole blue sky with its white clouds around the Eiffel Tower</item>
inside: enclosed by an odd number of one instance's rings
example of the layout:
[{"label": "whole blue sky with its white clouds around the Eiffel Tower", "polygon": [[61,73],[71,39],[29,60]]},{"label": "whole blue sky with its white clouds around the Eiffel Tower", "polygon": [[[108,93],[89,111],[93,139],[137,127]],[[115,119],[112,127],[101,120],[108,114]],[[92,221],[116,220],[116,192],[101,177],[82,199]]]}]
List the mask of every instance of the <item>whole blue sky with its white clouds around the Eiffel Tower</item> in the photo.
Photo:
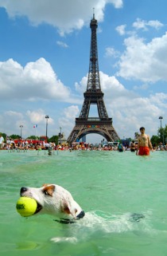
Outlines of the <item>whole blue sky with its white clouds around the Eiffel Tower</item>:
[{"label": "whole blue sky with its white clouds around the Eiffel Tower", "polygon": [[[167,120],[165,0],[0,0],[0,132],[68,137],[87,88],[95,8],[101,89],[118,136]],[[92,107],[91,117],[96,116]],[[38,124],[38,128],[33,128]],[[99,136],[87,136],[100,142]]]}]

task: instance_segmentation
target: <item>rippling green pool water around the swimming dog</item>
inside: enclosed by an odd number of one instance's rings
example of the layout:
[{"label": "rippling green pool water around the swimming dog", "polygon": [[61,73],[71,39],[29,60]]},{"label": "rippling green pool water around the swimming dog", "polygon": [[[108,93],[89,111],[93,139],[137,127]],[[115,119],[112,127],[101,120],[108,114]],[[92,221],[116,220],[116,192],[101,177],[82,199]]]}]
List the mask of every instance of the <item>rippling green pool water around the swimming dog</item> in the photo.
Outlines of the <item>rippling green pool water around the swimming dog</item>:
[{"label": "rippling green pool water around the swimming dog", "polygon": [[[167,152],[0,152],[0,254],[166,256]],[[57,183],[86,212],[74,224],[22,218],[20,187]],[[145,215],[140,222],[132,213]]]}]

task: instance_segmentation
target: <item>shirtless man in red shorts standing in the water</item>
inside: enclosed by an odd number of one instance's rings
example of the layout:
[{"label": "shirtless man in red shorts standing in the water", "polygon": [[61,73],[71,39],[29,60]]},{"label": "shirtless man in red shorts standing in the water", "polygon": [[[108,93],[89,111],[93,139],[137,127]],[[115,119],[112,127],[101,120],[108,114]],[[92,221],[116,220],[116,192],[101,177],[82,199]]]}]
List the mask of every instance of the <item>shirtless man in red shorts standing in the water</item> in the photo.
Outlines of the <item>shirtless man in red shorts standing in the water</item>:
[{"label": "shirtless man in red shorts standing in the water", "polygon": [[149,156],[150,149],[153,150],[153,146],[150,141],[150,136],[145,134],[145,128],[140,128],[141,136],[138,137],[138,148],[136,151],[137,156]]}]

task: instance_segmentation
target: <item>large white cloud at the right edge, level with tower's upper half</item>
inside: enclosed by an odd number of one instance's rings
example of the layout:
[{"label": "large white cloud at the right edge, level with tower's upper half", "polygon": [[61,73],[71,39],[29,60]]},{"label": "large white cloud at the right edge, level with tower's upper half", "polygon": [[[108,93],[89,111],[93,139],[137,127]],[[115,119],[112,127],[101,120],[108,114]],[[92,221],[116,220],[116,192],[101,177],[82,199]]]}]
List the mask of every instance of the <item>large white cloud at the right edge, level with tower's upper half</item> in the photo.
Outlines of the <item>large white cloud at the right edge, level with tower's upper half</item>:
[{"label": "large white cloud at the right edge, level with tower's upper half", "polygon": [[143,38],[128,37],[124,44],[118,76],[145,82],[167,81],[167,33],[148,43]]}]

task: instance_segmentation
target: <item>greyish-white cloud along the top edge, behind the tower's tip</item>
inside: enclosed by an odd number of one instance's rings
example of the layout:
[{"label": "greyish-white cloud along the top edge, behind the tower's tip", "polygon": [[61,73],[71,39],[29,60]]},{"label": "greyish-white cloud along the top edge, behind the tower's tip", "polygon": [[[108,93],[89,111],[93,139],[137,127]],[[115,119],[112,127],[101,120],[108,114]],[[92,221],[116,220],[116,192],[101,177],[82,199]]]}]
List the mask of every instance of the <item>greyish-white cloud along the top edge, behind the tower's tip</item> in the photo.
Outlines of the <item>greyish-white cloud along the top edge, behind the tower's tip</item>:
[{"label": "greyish-white cloud along the top edge, behind the tower's tip", "polygon": [[103,10],[107,3],[115,8],[122,7],[122,0],[0,0],[0,6],[6,8],[10,18],[26,16],[33,26],[45,22],[55,26],[61,35],[80,30],[84,24],[90,22],[93,8],[95,18],[103,20]]}]

